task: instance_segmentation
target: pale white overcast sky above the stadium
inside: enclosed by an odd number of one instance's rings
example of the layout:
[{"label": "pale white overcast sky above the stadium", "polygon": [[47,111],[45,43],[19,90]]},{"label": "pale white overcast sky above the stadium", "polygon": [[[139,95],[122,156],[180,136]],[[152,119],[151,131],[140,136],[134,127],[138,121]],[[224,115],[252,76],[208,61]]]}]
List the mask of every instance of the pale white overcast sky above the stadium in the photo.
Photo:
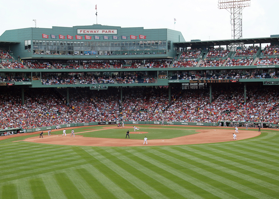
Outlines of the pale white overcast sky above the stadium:
[{"label": "pale white overcast sky above the stadium", "polygon": [[[175,29],[185,41],[231,39],[230,13],[218,9],[218,0],[0,0],[0,35],[5,30],[35,27],[33,20],[38,28],[93,25],[96,4],[100,25]],[[278,0],[251,0],[251,6],[242,11],[243,38],[279,34],[278,7]]]}]

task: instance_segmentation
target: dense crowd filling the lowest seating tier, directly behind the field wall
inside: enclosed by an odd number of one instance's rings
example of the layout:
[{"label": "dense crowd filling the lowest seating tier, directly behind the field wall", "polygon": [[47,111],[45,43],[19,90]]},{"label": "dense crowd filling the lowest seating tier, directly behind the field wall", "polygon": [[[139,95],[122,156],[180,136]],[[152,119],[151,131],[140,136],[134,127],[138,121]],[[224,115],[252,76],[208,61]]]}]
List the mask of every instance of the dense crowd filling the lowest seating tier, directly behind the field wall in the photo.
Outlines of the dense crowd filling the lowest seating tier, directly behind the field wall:
[{"label": "dense crowd filling the lowest seating tier, directly behind the field wall", "polygon": [[[262,92],[264,90],[264,92]],[[70,102],[51,88],[27,89],[21,105],[20,91],[0,96],[0,128],[29,129],[42,126],[95,121],[180,121],[180,122],[272,122],[279,120],[276,88],[253,88],[244,94],[236,89],[216,89],[210,104],[208,89],[126,88],[123,102],[115,88],[89,93],[70,90]],[[61,92],[62,93],[62,92]]]}]

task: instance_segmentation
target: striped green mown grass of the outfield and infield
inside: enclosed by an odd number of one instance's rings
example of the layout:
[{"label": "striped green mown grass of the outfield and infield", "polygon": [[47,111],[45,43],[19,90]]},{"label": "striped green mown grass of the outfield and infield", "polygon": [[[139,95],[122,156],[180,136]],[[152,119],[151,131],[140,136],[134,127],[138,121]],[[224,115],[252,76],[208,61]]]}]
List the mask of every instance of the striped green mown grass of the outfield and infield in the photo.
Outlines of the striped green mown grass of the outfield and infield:
[{"label": "striped green mown grass of the outfield and infield", "polygon": [[[181,132],[193,134],[195,130],[189,129],[198,129],[174,125],[157,127],[178,130],[137,127],[150,132],[141,135],[148,135],[148,139],[156,135],[169,138],[170,133],[178,137]],[[75,132],[98,128],[82,127]],[[261,130],[260,136],[246,140],[179,146],[86,147],[11,142],[38,135],[1,140],[0,198],[278,199],[279,131]],[[126,133],[127,129],[119,131],[124,135],[122,131]],[[109,130],[82,135],[118,136]]]}]

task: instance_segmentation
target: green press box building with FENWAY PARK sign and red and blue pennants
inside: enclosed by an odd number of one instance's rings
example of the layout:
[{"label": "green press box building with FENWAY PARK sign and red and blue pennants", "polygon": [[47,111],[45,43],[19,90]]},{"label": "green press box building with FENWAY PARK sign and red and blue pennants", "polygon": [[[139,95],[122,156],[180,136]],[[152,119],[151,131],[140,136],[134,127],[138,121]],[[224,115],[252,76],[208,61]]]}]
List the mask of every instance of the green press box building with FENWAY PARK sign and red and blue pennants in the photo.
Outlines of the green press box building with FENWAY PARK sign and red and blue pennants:
[{"label": "green press box building with FENWAY PARK sign and red and blue pennants", "polygon": [[[173,58],[173,42],[184,42],[170,29],[121,28],[91,25],[7,30],[0,41],[20,42],[10,46],[21,59],[144,59]],[[86,55],[85,55],[86,54]]]}]

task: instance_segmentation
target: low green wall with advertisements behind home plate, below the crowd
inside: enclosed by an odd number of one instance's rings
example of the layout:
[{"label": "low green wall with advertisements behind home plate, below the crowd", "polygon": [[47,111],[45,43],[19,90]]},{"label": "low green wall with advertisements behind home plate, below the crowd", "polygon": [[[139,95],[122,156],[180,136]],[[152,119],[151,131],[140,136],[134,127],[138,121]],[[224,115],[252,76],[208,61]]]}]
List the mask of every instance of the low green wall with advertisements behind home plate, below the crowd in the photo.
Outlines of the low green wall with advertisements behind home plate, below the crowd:
[{"label": "low green wall with advertisements behind home plate, below the crowd", "polygon": [[[71,123],[71,124],[61,124],[58,125],[59,129],[67,127],[76,127],[76,126],[94,126],[94,125],[109,125],[109,124],[120,124],[122,121],[117,122],[86,122],[86,123]],[[162,124],[162,121],[123,121],[124,124]],[[218,123],[198,123],[198,122],[166,122],[164,125],[188,125],[188,126],[218,126]],[[25,133],[31,133],[36,131],[48,131],[50,129],[56,129],[56,126],[40,127],[34,129],[21,129]]]}]

